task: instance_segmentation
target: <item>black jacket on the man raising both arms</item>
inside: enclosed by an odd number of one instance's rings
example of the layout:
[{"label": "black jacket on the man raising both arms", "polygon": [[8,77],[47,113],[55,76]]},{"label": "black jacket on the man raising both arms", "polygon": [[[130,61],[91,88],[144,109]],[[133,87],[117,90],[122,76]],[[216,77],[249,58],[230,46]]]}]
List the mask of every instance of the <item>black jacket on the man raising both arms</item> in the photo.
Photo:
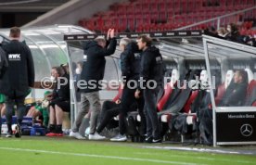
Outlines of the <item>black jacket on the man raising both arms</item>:
[{"label": "black jacket on the man raising both arms", "polygon": [[[85,81],[86,88],[82,86],[81,92],[90,93],[98,91],[100,85],[98,84],[104,77],[106,56],[115,53],[117,41],[110,39],[109,47],[102,48],[95,41],[90,41],[83,46],[83,70],[81,73],[81,80]],[[88,83],[91,81],[91,83]]]}]

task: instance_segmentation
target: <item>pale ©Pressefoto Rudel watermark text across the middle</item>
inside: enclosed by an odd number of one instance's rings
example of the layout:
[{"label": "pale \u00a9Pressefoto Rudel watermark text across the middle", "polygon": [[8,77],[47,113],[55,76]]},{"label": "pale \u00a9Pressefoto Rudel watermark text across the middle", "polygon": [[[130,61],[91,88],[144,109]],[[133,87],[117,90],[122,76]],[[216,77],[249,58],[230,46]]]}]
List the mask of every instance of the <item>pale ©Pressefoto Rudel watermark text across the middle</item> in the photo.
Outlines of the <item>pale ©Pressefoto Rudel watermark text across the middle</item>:
[{"label": "pale \u00a9Pressefoto Rudel watermark text across the middle", "polygon": [[[41,80],[41,86],[45,89],[51,89],[53,88],[54,83],[56,83],[57,88],[60,89],[61,86],[67,85],[68,79],[65,77],[58,77],[57,80],[52,80],[50,77],[44,77]],[[73,83],[75,83],[75,86],[79,89],[119,89],[120,84],[125,84],[127,88],[130,89],[154,89],[160,83],[158,83],[155,80],[145,80],[142,77],[138,80],[129,80],[126,81],[125,77],[122,77],[122,80],[90,80],[90,81],[85,81],[85,80],[70,80]],[[210,86],[212,89],[215,89],[216,84],[215,84],[215,76],[212,76],[211,78],[211,85],[207,81],[200,81],[199,77],[197,76],[193,80],[177,80],[177,81],[172,81],[171,77],[164,77],[163,82],[161,83],[164,88],[167,88],[167,84],[169,84],[173,89],[178,88],[178,89],[202,89],[202,90],[209,90]],[[72,85],[70,85],[72,87]]]}]

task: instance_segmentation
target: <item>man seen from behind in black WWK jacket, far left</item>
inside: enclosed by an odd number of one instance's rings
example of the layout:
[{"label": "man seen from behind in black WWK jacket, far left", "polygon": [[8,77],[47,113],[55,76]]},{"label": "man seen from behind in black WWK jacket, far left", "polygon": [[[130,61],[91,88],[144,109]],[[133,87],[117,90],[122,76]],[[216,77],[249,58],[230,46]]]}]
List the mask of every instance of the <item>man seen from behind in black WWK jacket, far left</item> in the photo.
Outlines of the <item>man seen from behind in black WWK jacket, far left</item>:
[{"label": "man seen from behind in black WWK jacket, far left", "polygon": [[8,126],[6,137],[11,137],[12,134],[11,122],[15,104],[18,109],[18,126],[15,136],[20,137],[20,123],[25,112],[24,100],[34,83],[34,67],[30,48],[19,42],[19,28],[11,28],[9,36],[10,43],[3,45],[8,68],[1,80],[0,93],[6,95],[6,122]]}]

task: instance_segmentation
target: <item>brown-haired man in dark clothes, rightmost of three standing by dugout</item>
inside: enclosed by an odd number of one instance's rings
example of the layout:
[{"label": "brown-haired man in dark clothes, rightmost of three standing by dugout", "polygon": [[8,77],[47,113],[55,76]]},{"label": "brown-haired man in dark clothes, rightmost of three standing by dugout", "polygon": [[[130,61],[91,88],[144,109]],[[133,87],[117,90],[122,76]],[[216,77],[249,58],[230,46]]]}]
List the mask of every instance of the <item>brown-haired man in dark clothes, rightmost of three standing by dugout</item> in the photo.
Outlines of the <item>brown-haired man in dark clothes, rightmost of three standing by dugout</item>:
[{"label": "brown-haired man in dark clothes, rightmost of three standing by dugout", "polygon": [[139,88],[135,97],[139,97],[141,89],[145,99],[144,110],[147,119],[147,143],[160,143],[160,122],[157,114],[157,98],[163,83],[163,62],[160,50],[151,46],[151,38],[141,35],[137,40],[142,50]]}]

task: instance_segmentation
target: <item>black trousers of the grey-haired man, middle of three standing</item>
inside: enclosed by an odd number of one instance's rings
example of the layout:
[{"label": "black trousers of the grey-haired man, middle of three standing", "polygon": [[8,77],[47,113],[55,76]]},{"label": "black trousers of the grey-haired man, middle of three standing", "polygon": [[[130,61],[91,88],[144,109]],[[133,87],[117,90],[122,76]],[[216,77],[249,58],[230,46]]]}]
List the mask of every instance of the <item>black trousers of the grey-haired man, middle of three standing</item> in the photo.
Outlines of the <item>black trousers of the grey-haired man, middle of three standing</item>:
[{"label": "black trousers of the grey-haired man, middle of three standing", "polygon": [[141,96],[139,99],[134,97],[136,89],[129,89],[124,86],[122,91],[122,102],[120,108],[120,118],[119,118],[119,129],[120,133],[124,134],[127,132],[127,113],[129,111],[134,111],[134,108],[131,108],[132,105],[136,104],[135,108],[138,108],[138,113],[141,117],[141,124],[140,124],[140,134],[146,133],[146,117],[144,113],[144,98]]}]

